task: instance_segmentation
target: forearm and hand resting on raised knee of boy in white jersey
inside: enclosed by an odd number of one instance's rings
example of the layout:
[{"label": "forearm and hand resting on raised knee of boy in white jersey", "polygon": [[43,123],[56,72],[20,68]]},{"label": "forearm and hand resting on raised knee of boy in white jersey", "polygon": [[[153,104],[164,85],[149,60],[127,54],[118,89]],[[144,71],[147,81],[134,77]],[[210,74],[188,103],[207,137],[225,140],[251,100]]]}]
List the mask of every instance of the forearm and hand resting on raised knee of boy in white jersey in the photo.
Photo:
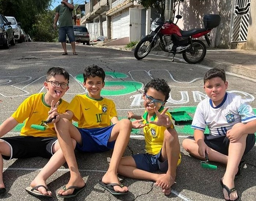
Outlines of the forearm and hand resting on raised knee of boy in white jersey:
[{"label": "forearm and hand resting on raised knee of boy in white jersey", "polygon": [[239,124],[239,126],[233,126],[227,131],[227,138],[231,143],[236,142],[240,139],[243,134],[255,133],[256,132],[256,120],[247,122],[246,124]]}]

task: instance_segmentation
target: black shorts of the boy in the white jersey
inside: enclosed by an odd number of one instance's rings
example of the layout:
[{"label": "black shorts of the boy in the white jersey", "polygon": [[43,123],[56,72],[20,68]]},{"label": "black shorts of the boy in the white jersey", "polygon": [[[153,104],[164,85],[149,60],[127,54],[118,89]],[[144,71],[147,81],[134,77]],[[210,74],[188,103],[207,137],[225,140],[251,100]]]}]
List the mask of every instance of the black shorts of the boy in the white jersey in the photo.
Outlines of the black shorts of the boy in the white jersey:
[{"label": "black shorts of the boy in the white jersey", "polygon": [[[194,137],[187,137],[188,139],[195,140]],[[226,135],[224,136],[213,136],[209,134],[204,135],[204,142],[206,145],[215,151],[222,153],[224,155],[229,155],[229,139]],[[244,151],[244,155],[248,153],[253,146],[255,145],[255,134],[248,134],[246,138],[246,147]]]}]

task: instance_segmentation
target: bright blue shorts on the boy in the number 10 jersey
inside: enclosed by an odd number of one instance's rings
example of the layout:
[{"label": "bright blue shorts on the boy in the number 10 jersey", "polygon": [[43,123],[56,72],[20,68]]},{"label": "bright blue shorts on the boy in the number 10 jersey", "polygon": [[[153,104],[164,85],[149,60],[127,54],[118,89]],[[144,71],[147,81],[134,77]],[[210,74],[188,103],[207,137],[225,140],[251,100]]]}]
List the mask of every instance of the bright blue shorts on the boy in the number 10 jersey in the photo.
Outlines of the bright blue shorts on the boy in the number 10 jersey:
[{"label": "bright blue shorts on the boy in the number 10 jersey", "polygon": [[77,128],[82,136],[82,145],[76,144],[76,150],[83,152],[104,152],[114,148],[115,140],[108,142],[114,125],[104,128]]}]

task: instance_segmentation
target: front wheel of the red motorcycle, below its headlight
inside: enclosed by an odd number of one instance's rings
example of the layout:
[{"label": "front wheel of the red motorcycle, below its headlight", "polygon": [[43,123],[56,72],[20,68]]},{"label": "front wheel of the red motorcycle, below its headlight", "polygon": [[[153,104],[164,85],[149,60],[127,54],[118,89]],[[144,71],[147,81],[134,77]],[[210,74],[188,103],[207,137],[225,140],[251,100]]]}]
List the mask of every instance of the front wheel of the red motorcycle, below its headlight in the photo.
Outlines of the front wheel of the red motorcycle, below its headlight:
[{"label": "front wheel of the red motorcycle, below its headlight", "polygon": [[138,60],[143,59],[148,55],[148,53],[150,53],[151,48],[152,38],[148,38],[146,41],[140,41],[134,50],[135,58]]}]

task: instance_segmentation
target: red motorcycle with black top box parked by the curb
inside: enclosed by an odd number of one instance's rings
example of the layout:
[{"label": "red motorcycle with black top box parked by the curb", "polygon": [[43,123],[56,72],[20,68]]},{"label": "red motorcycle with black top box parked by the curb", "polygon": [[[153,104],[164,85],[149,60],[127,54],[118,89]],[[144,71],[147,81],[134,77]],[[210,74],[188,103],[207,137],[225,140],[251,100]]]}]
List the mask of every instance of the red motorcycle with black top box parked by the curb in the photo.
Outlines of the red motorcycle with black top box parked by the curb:
[{"label": "red motorcycle with black top box parked by the curb", "polygon": [[[178,19],[182,18],[181,15],[176,16]],[[185,61],[189,64],[196,64],[202,61],[206,55],[206,46],[202,41],[195,40],[193,38],[199,38],[204,36],[207,44],[210,46],[210,40],[208,38],[209,32],[219,26],[221,22],[221,16],[216,14],[207,14],[203,18],[203,29],[191,29],[188,31],[182,31],[172,21],[164,21],[161,16],[156,18],[151,23],[150,34],[144,37],[136,46],[134,56],[140,60],[148,55],[150,51],[157,45],[165,51],[173,54],[182,54]]]}]

